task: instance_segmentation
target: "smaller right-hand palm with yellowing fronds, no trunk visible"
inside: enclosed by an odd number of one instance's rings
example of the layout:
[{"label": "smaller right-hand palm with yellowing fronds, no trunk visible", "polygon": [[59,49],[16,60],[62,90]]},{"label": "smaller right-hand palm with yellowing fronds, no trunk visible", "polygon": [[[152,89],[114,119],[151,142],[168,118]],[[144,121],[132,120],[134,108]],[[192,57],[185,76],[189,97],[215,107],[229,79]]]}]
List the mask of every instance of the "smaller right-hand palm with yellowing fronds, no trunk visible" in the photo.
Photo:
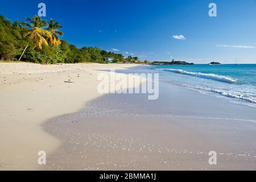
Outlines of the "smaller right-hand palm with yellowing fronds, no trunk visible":
[{"label": "smaller right-hand palm with yellowing fronds, no trunk visible", "polygon": [[61,26],[58,22],[56,22],[55,20],[51,19],[48,22],[48,36],[47,36],[47,40],[48,43],[51,44],[52,46],[60,46],[61,42],[59,39],[59,36],[63,36],[63,32],[59,31],[59,28],[62,28],[63,26]]}]

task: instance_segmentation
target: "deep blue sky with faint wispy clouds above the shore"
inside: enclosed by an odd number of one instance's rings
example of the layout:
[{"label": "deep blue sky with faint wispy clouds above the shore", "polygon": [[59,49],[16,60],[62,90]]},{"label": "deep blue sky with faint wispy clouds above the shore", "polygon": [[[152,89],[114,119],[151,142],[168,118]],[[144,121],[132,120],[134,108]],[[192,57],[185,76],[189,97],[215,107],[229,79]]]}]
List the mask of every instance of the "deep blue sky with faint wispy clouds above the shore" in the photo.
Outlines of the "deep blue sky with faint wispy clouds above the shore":
[{"label": "deep blue sky with faint wispy clouds above the shore", "polygon": [[[150,61],[234,63],[237,57],[241,64],[256,63],[256,0],[9,0],[1,2],[0,14],[22,21],[38,13],[40,2],[46,18],[64,26],[62,39],[77,47]],[[208,15],[210,2],[217,17]]]}]

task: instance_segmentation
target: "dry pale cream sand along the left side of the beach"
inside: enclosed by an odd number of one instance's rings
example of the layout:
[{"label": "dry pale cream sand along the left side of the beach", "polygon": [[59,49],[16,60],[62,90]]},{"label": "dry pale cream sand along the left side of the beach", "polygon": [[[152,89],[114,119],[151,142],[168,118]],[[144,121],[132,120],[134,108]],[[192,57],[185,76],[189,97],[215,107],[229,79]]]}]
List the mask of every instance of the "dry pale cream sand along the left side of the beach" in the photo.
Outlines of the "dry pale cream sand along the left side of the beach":
[{"label": "dry pale cream sand along the left side of the beach", "polygon": [[60,145],[42,123],[100,97],[98,69],[135,66],[0,63],[0,170],[37,169],[38,151],[49,153]]}]

